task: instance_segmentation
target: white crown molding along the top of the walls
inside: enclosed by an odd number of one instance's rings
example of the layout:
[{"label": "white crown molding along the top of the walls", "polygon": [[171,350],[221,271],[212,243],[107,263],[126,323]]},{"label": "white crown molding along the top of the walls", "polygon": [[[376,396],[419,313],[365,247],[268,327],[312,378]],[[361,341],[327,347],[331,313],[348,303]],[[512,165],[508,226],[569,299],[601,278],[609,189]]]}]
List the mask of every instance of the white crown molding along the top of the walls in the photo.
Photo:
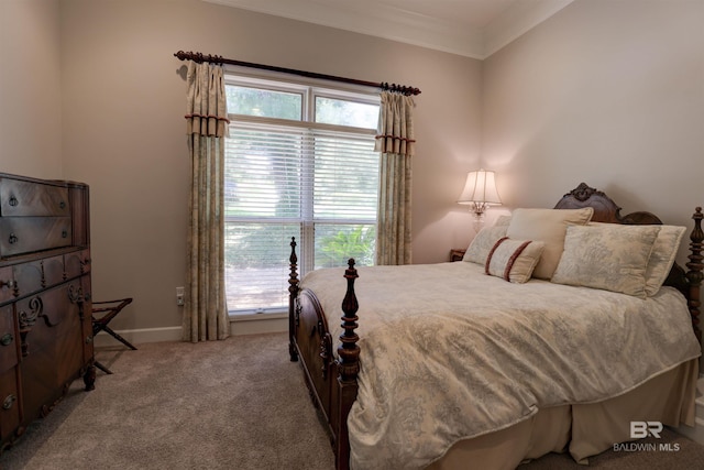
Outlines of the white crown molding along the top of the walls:
[{"label": "white crown molding along the top of the walls", "polygon": [[378,4],[320,0],[202,0],[484,59],[574,0],[516,1],[486,28]]}]

